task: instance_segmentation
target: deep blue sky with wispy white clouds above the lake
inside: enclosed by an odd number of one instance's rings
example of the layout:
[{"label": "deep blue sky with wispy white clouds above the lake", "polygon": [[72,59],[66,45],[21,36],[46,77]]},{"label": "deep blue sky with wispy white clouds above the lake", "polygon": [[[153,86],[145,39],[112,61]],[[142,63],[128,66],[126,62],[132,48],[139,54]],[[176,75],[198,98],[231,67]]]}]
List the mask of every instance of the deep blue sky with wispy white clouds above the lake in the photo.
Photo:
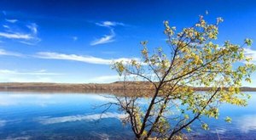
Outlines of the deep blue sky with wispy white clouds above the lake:
[{"label": "deep blue sky with wispy white clouds above the lake", "polygon": [[[1,0],[0,82],[117,81],[113,60],[139,58],[144,40],[165,48],[164,20],[180,30],[206,10],[224,18],[218,43],[256,42],[253,0]],[[247,55],[256,63],[256,46]]]}]

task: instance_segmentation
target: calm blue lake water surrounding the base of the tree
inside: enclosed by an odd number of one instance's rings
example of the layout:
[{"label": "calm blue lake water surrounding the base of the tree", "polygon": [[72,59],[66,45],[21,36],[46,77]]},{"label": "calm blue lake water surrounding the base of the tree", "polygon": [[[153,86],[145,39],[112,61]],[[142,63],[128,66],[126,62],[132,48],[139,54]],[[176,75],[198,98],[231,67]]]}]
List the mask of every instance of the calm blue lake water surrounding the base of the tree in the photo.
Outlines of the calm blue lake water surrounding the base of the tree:
[{"label": "calm blue lake water surrounding the base of the tree", "polygon": [[[193,126],[193,139],[256,139],[256,92],[247,107],[223,105],[218,120],[206,119],[210,131]],[[123,115],[109,109],[99,120],[98,94],[0,92],[0,139],[132,139]],[[230,116],[232,123],[224,122]]]}]

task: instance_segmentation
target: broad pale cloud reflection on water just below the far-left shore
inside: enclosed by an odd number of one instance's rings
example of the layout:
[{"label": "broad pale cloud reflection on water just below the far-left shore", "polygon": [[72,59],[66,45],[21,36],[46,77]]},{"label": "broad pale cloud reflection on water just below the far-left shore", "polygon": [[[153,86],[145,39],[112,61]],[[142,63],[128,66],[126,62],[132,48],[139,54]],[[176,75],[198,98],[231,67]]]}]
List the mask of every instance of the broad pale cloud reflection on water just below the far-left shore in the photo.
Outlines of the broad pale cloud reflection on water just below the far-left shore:
[{"label": "broad pale cloud reflection on water just below the far-left shore", "polygon": [[3,92],[0,98],[0,107],[36,105],[53,106],[60,104],[97,104],[98,102],[114,102],[111,95],[79,94],[79,93],[23,93]]}]

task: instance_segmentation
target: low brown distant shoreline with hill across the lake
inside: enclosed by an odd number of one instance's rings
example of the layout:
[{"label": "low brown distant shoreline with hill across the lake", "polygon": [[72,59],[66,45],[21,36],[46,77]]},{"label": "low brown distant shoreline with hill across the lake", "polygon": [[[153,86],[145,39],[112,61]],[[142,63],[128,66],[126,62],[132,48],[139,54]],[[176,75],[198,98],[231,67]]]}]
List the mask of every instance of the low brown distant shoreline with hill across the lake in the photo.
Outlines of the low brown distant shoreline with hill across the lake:
[{"label": "low brown distant shoreline with hill across the lake", "polygon": [[[125,88],[130,91],[152,91],[147,81],[127,81]],[[207,91],[209,87],[194,87],[196,91]],[[124,82],[98,84],[66,84],[44,82],[4,82],[0,83],[0,91],[35,91],[35,92],[123,92]],[[244,92],[256,92],[256,87],[241,87]]]}]

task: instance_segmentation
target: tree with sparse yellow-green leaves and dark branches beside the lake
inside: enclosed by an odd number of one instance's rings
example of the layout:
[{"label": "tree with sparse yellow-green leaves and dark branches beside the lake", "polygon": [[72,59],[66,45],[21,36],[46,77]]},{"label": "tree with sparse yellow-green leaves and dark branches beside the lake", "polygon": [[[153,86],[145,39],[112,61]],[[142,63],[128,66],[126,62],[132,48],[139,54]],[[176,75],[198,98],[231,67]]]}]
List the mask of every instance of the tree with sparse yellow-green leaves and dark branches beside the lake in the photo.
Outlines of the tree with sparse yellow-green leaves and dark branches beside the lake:
[{"label": "tree with sparse yellow-green leaves and dark branches beside the lake", "polygon": [[[249,96],[240,92],[242,81],[251,81],[255,65],[244,55],[244,48],[252,45],[246,39],[240,46],[229,41],[216,43],[218,25],[200,20],[189,28],[176,32],[168,21],[164,22],[169,53],[162,48],[149,52],[148,42],[143,45],[142,59],[113,64],[119,76],[124,77],[124,96],[116,102],[131,124],[136,139],[157,137],[178,139],[183,130],[191,131],[198,120],[205,130],[208,126],[201,116],[218,118],[218,106],[223,103],[245,106]],[[147,81],[151,92],[127,93],[131,82]],[[194,87],[208,87],[206,92],[196,92]],[[153,92],[152,92],[153,91]],[[140,104],[139,97],[148,97],[148,104]],[[226,121],[230,121],[230,117]]]}]

